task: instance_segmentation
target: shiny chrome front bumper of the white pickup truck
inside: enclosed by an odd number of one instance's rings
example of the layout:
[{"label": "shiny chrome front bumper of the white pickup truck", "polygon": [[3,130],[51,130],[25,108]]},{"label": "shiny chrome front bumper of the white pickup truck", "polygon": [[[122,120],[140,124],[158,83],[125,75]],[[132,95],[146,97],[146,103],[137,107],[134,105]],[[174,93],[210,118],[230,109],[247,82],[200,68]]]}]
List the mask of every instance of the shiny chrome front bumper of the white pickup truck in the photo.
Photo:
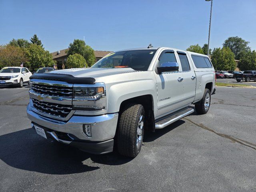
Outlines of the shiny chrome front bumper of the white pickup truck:
[{"label": "shiny chrome front bumper of the white pickup truck", "polygon": [[[95,154],[113,150],[113,138],[116,133],[118,113],[100,116],[73,115],[67,122],[63,122],[37,114],[31,110],[30,104],[28,104],[27,115],[32,121],[32,126],[36,124],[43,128],[51,138],[54,138],[53,135],[55,135],[57,139],[54,139],[59,142]],[[91,137],[84,133],[83,125],[91,126]],[[51,132],[53,135],[50,134]]]}]

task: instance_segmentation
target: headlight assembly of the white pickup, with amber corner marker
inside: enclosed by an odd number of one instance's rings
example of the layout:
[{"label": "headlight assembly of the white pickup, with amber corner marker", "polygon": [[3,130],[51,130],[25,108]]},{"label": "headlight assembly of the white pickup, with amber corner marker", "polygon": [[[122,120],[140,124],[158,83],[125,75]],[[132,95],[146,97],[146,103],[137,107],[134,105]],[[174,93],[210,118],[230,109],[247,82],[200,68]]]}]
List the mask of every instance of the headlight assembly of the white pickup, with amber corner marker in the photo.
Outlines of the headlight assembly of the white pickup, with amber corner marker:
[{"label": "headlight assembly of the white pickup, with amber corner marker", "polygon": [[73,109],[104,112],[106,110],[106,89],[104,83],[74,84]]}]

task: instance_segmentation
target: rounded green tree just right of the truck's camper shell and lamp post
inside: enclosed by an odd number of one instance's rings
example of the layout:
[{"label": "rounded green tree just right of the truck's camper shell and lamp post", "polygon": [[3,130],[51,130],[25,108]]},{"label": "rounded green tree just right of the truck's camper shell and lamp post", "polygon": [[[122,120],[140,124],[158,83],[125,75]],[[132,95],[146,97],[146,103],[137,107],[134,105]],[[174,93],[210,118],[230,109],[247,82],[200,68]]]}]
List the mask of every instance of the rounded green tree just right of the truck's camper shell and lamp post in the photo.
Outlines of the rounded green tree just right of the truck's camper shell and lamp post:
[{"label": "rounded green tree just right of the truck's camper shell and lamp post", "polygon": [[215,70],[236,69],[234,53],[228,47],[214,48],[211,60]]}]

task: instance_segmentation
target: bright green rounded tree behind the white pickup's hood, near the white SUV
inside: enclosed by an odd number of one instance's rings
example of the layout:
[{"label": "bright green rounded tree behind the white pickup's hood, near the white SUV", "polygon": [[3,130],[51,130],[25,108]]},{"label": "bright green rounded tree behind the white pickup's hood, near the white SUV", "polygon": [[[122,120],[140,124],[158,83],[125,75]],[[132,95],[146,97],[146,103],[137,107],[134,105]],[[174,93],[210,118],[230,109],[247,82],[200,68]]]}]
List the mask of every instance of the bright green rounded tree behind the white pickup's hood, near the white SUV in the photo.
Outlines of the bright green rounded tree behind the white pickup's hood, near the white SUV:
[{"label": "bright green rounded tree behind the white pickup's hood, near the white SUV", "polygon": [[52,59],[52,54],[37,44],[30,44],[25,50],[25,53],[28,60],[26,64],[31,70],[40,67],[52,67],[56,63],[56,61]]}]

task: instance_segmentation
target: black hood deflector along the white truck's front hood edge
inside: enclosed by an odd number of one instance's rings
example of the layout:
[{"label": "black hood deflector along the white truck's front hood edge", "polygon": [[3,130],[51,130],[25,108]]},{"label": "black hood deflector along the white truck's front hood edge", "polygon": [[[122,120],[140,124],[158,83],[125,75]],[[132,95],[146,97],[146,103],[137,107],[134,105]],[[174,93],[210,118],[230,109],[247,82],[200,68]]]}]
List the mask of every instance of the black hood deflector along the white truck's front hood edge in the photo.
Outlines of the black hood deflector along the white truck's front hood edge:
[{"label": "black hood deflector along the white truck's front hood edge", "polygon": [[70,84],[94,84],[95,79],[91,77],[74,77],[70,74],[59,73],[35,73],[30,79],[45,79],[54,81],[64,81]]}]

